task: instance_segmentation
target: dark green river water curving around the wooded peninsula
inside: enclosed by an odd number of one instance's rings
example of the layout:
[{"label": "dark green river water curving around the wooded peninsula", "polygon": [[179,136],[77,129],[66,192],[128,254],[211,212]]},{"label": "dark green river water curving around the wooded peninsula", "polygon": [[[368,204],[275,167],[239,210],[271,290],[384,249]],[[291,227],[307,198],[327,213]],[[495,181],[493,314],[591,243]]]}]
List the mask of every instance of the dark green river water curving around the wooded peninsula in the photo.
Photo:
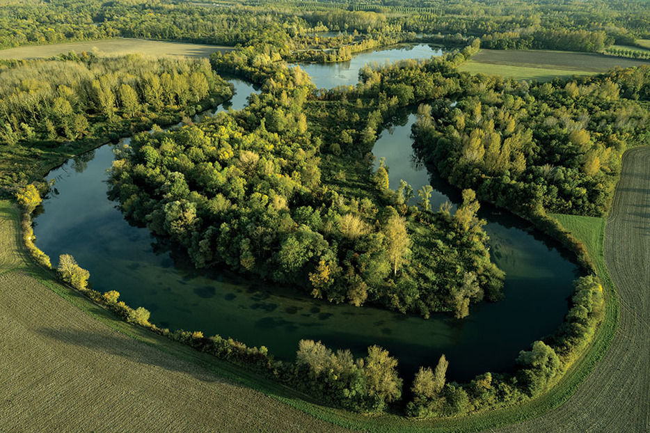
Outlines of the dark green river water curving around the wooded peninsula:
[{"label": "dark green river water curving around the wooded peninsula", "polygon": [[[236,86],[239,97],[252,90],[241,82]],[[426,171],[411,166],[413,120],[404,116],[397,122],[402,125],[384,131],[374,148],[378,157],[386,156],[392,187],[400,178],[414,189],[429,180]],[[49,173],[56,194],[44,200],[44,212],[35,219],[38,246],[54,263],[58,255],[71,253],[90,271],[93,288],[118,290],[129,306],[150,310],[159,326],[266,345],[280,359],[293,359],[298,341],[312,338],[359,356],[367,346],[381,345],[397,356],[407,380],[419,365],[435,364],[443,353],[452,380],[507,371],[519,350],[562,323],[577,276],[576,265],[528,223],[487,212],[483,217],[490,221],[493,255],[508,274],[503,301],[473,306],[461,321],[331,305],[228,271],[196,271],[183,253],[161,244],[147,229],[129,226],[106,198],[106,169],[112,161],[112,145],[105,145]],[[448,187],[434,184],[437,206],[447,200],[440,191]],[[453,192],[447,192],[452,200]]]}]

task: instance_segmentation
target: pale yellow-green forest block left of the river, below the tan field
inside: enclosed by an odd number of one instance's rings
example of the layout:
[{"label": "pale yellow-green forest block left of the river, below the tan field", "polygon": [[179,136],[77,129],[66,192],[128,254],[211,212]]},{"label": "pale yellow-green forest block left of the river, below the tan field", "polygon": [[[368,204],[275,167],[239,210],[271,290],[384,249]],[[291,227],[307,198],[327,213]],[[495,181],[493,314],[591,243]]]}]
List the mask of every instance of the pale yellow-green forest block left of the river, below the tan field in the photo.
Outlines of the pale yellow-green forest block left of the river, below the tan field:
[{"label": "pale yellow-green forest block left of the river, below the tan field", "polygon": [[[0,184],[24,182],[65,143],[193,116],[232,95],[205,60],[71,53],[0,66]],[[28,161],[29,159],[29,161]],[[14,163],[31,168],[16,170]]]}]

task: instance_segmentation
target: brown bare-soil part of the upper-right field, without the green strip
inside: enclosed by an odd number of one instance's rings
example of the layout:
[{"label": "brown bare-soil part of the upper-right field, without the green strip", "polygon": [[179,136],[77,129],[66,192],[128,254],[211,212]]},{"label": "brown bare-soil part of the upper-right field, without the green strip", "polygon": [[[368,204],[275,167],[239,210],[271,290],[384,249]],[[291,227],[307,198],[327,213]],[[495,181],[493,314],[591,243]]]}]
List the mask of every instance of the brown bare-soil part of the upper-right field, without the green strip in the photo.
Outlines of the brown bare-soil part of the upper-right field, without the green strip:
[{"label": "brown bare-soil part of the upper-right field, without the green strip", "polygon": [[616,66],[629,68],[650,65],[649,61],[605,56],[603,54],[559,52],[544,50],[482,49],[472,57],[473,62],[578,72],[605,72]]}]

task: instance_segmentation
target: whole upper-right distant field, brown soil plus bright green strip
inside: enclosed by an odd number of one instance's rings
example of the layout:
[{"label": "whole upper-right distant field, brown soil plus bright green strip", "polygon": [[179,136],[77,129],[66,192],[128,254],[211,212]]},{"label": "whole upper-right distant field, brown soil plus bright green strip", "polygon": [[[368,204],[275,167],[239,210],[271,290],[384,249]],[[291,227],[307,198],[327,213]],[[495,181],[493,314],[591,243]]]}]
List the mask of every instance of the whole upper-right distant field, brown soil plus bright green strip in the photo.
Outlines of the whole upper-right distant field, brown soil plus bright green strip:
[{"label": "whole upper-right distant field, brown soil plus bright green strip", "polygon": [[501,74],[514,79],[548,81],[555,77],[571,77],[606,72],[616,66],[629,68],[650,65],[633,58],[556,51],[482,49],[464,63],[460,70],[477,74]]}]

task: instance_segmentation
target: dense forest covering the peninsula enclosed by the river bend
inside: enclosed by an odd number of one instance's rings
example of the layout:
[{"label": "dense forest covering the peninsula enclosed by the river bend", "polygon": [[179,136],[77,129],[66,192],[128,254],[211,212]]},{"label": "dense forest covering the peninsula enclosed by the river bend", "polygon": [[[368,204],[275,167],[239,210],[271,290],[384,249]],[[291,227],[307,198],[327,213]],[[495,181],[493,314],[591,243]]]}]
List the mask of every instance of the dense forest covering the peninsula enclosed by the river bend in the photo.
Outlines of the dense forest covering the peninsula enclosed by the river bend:
[{"label": "dense forest covering the peninsula enclosed by the river bend", "polygon": [[[430,187],[409,206],[415,191],[390,190],[389,168],[372,168],[387,95],[338,101],[337,111],[298,68],[267,68],[255,74],[279,73],[284,84],[267,79],[271,91],[243,111],[136,136],[111,178],[125,214],[185,246],[198,267],[225,262],[329,301],[465,317],[470,302],[498,299],[502,274],[473,191],[455,214],[434,212]],[[337,122],[348,138],[330,143],[323,115],[340,110],[350,111]]]}]

